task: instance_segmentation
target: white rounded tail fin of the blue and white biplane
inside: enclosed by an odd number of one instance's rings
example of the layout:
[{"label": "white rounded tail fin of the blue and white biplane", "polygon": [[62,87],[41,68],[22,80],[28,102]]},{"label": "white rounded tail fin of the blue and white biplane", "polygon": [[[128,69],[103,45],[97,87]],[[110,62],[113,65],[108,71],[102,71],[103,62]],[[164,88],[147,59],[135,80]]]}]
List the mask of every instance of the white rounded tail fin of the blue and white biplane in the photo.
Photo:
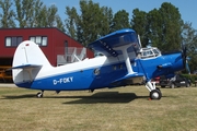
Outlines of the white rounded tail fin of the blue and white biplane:
[{"label": "white rounded tail fin of the blue and white biplane", "polygon": [[21,43],[12,62],[13,82],[32,82],[42,68],[51,68],[51,66],[38,45],[31,40]]}]

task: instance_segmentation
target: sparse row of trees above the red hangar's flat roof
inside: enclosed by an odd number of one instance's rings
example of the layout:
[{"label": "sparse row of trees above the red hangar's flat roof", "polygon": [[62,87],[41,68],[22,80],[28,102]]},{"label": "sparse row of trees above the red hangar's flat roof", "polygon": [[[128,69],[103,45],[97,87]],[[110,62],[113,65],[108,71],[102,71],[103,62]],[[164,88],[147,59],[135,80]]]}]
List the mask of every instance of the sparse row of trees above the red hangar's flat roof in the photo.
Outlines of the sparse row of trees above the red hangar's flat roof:
[{"label": "sparse row of trees above the red hangar's flat roof", "polygon": [[58,27],[65,32],[58,8],[40,0],[0,0],[0,27]]}]

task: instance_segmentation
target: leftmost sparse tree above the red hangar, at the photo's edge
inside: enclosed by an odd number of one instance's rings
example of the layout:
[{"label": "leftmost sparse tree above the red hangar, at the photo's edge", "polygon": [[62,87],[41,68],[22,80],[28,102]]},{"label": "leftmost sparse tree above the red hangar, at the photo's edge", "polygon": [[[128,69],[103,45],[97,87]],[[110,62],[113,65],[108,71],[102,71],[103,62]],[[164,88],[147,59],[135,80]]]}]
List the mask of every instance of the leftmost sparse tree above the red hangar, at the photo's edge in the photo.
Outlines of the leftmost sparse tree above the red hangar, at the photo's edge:
[{"label": "leftmost sparse tree above the red hangar, at the photo's edge", "polygon": [[0,13],[0,26],[8,28],[8,27],[15,27],[14,23],[14,11],[11,9],[12,2],[10,0],[0,0],[0,8],[2,13]]}]

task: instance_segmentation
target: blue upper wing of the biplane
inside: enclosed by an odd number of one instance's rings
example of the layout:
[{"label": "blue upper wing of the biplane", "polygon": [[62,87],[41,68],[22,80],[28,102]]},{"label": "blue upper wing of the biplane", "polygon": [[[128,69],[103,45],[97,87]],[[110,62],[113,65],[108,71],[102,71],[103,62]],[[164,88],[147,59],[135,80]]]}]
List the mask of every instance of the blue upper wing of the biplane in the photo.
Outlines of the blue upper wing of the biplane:
[{"label": "blue upper wing of the biplane", "polygon": [[89,48],[93,49],[94,51],[102,52],[107,57],[117,57],[118,55],[123,53],[120,51],[120,47],[126,45],[130,45],[130,47],[127,49],[128,52],[140,49],[138,37],[134,29],[127,28],[111,33],[93,41],[92,44],[89,44]]}]

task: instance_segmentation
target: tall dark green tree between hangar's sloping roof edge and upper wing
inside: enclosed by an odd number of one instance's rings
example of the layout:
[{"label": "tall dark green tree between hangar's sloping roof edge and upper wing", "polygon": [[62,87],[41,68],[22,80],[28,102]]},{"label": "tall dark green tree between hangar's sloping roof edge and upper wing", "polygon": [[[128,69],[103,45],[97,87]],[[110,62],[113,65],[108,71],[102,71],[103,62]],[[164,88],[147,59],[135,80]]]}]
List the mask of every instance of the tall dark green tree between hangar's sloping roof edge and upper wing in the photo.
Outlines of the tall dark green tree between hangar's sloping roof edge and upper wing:
[{"label": "tall dark green tree between hangar's sloping roof edge and upper wing", "polygon": [[103,14],[99,3],[80,1],[81,16],[78,28],[78,40],[84,46],[100,37]]}]

